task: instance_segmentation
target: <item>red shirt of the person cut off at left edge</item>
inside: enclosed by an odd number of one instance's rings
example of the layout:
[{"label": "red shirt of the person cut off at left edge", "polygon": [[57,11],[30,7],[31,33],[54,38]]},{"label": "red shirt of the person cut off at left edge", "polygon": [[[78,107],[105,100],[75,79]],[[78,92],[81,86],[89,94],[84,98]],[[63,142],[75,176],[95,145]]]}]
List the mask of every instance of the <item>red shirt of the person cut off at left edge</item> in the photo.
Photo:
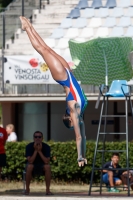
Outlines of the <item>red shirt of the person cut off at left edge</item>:
[{"label": "red shirt of the person cut off at left edge", "polygon": [[0,127],[0,154],[5,153],[5,143],[7,140],[7,132],[4,128]]}]

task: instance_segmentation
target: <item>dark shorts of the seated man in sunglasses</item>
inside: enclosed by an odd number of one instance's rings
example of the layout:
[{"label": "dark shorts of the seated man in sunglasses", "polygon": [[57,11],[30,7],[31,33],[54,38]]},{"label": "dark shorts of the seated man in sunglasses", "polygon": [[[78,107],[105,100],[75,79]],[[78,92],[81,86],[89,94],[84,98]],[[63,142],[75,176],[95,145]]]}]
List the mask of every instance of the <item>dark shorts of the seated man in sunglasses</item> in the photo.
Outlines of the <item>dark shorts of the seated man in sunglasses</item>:
[{"label": "dark shorts of the seated man in sunglasses", "polygon": [[[27,169],[27,166],[30,165],[30,164],[26,164],[26,168],[25,170]],[[33,168],[33,172],[32,172],[32,175],[43,175],[44,174],[44,165],[45,164],[33,164],[34,165],[34,168]]]}]

